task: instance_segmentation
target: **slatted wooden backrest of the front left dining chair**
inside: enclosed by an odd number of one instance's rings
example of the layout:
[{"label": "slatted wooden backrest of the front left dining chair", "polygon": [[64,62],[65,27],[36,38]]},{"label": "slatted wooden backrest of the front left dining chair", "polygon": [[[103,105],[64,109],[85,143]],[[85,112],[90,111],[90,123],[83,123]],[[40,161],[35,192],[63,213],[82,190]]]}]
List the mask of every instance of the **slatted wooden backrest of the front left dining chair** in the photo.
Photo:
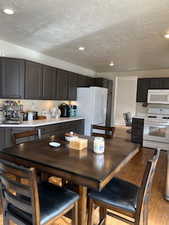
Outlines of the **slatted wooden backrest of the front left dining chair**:
[{"label": "slatted wooden backrest of the front left dining chair", "polygon": [[[4,212],[17,217],[10,212],[10,208],[22,210],[23,213],[30,215],[32,224],[39,225],[40,209],[35,169],[0,160],[0,181]],[[24,218],[19,216],[17,220],[22,224]],[[25,219],[25,224],[27,222]]]}]

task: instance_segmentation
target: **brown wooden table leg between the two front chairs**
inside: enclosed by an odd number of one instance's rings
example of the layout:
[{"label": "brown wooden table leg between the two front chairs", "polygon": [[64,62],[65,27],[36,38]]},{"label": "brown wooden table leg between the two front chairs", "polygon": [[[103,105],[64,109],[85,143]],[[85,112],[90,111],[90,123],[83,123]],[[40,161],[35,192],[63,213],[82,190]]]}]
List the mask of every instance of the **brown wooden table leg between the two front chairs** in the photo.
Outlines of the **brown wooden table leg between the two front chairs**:
[{"label": "brown wooden table leg between the two front chairs", "polygon": [[78,225],[86,225],[87,223],[87,187],[79,186],[79,209],[78,209]]}]

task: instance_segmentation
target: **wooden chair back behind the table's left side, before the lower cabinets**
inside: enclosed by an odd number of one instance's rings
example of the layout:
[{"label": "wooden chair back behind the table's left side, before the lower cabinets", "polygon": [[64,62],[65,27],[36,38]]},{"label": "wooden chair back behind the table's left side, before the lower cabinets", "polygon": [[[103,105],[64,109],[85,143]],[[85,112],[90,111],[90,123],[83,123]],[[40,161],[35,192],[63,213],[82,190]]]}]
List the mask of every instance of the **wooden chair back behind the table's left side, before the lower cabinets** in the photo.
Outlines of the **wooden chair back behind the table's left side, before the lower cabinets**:
[{"label": "wooden chair back behind the table's left side, before the lower cabinets", "polygon": [[17,144],[17,140],[26,138],[26,137],[36,137],[40,139],[38,130],[27,130],[27,131],[13,134],[13,143]]}]

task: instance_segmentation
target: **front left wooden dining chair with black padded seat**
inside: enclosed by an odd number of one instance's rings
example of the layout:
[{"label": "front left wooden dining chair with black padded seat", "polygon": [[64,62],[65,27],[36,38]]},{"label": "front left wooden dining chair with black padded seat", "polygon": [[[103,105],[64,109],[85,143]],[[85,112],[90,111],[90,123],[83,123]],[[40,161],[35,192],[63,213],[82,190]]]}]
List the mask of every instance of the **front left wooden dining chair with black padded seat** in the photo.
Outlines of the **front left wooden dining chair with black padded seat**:
[{"label": "front left wooden dining chair with black padded seat", "polygon": [[[24,179],[10,179],[8,174]],[[3,224],[44,225],[72,211],[72,225],[78,225],[79,196],[48,182],[37,184],[35,168],[25,168],[0,160]]]}]

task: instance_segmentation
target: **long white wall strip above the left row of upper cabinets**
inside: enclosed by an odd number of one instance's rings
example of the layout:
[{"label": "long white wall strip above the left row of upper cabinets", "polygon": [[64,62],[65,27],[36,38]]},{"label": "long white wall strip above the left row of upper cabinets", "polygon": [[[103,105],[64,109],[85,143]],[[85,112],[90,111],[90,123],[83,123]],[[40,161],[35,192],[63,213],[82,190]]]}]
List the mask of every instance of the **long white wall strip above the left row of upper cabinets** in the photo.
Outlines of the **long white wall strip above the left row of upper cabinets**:
[{"label": "long white wall strip above the left row of upper cabinets", "polygon": [[95,76],[95,72],[90,69],[86,69],[84,67],[74,65],[3,40],[0,40],[0,56],[12,58],[24,58],[42,64],[46,64],[49,66],[54,66],[60,69],[65,69],[71,72],[80,73],[92,77]]}]

